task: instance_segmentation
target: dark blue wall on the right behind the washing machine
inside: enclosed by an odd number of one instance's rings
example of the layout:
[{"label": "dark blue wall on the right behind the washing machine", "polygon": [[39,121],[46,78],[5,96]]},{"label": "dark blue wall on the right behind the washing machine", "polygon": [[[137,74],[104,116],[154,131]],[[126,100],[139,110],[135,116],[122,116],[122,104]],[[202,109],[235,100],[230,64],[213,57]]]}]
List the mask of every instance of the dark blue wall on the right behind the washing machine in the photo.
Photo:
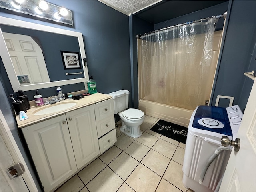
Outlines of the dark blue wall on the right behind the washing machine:
[{"label": "dark blue wall on the right behind the washing machine", "polygon": [[253,84],[244,72],[256,69],[255,42],[256,1],[233,1],[212,104],[217,95],[232,96],[244,111]]}]

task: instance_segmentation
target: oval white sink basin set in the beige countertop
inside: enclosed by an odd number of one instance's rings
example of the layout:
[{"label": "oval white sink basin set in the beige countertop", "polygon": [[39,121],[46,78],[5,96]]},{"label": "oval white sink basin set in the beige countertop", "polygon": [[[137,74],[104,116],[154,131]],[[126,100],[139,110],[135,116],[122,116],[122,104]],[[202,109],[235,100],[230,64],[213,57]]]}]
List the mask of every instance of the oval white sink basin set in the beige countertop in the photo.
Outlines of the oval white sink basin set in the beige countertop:
[{"label": "oval white sink basin set in the beige countertop", "polygon": [[56,103],[52,104],[50,106],[44,107],[42,109],[36,110],[34,115],[46,115],[50,113],[56,113],[62,110],[66,110],[70,107],[75,106],[77,103],[76,102],[68,102],[68,103]]}]

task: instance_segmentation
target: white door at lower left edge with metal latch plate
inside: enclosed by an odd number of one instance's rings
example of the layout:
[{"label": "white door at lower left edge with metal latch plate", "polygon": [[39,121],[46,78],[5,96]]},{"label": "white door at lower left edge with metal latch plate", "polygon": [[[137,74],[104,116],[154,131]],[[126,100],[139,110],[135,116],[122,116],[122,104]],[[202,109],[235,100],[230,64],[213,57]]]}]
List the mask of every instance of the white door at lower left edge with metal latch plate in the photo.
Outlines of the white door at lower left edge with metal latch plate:
[{"label": "white door at lower left edge with metal latch plate", "polygon": [[[2,126],[2,123],[1,123]],[[22,191],[22,192],[29,192],[26,183],[24,182],[22,176],[19,176],[15,178],[14,180],[11,180],[9,176],[6,173],[6,170],[10,167],[16,164],[14,162],[5,142],[4,139],[0,138],[0,146],[1,146],[1,186],[0,191],[1,192],[16,192],[16,191]]]}]

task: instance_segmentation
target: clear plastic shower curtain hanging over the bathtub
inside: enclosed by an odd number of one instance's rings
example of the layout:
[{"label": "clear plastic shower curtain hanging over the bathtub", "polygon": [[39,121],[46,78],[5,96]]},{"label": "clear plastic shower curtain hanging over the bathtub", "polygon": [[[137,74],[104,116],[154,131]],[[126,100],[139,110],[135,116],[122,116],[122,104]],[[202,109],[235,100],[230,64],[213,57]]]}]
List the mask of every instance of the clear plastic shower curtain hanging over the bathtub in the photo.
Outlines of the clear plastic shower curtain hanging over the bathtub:
[{"label": "clear plastic shower curtain hanging over the bathtub", "polygon": [[209,100],[206,93],[212,89],[215,73],[211,62],[217,21],[210,18],[142,37],[144,99],[189,110]]}]

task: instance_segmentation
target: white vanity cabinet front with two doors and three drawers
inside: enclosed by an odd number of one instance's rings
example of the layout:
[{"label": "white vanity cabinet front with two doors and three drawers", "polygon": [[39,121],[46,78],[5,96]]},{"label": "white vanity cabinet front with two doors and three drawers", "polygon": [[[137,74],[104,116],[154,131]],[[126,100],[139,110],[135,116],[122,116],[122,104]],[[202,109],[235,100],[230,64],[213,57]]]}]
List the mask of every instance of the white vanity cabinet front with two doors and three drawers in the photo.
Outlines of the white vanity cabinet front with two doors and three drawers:
[{"label": "white vanity cabinet front with two doors and three drawers", "polygon": [[45,192],[52,192],[116,142],[113,99],[22,128]]}]

